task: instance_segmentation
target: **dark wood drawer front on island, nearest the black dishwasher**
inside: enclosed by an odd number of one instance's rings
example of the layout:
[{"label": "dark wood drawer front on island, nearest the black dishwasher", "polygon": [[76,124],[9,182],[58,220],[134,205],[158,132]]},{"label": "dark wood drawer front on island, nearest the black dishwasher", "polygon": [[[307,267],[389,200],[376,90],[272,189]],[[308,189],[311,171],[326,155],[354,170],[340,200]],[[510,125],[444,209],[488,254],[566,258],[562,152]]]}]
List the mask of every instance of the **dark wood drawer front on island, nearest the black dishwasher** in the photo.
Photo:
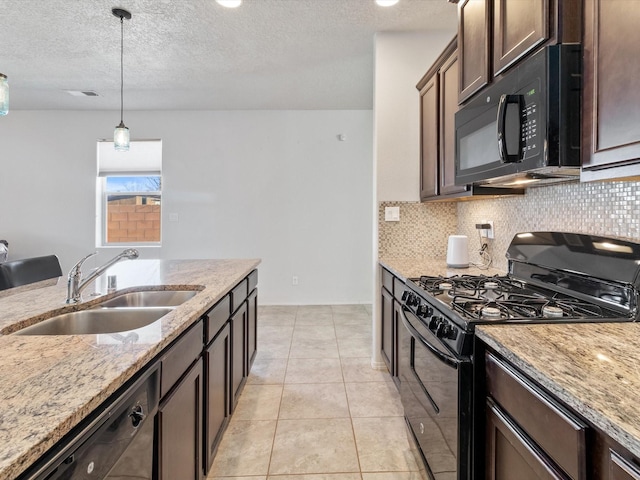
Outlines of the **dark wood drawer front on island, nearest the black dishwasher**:
[{"label": "dark wood drawer front on island, nearest the black dishwasher", "polygon": [[202,352],[204,327],[199,320],[162,357],[160,397],[164,397]]}]

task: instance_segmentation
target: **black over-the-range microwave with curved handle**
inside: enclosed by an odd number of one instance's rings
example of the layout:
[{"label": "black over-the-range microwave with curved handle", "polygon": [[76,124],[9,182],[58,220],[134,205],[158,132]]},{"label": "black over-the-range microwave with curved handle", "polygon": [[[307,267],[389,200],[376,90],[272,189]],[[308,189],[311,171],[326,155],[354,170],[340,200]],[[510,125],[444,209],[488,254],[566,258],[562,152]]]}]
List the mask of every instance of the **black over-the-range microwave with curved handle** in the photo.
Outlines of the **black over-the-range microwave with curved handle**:
[{"label": "black over-the-range microwave with curved handle", "polygon": [[580,175],[582,48],[552,45],[455,115],[456,185],[523,187]]}]

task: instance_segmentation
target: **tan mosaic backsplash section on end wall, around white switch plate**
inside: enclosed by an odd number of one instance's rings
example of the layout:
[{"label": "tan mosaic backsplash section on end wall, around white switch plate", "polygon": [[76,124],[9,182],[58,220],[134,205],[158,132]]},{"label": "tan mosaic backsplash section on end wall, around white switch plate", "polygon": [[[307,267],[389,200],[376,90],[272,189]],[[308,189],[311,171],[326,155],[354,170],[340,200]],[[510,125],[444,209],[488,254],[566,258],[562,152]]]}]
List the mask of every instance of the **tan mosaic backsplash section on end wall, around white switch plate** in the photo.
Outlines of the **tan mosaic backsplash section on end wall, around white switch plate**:
[{"label": "tan mosaic backsplash section on end wall, around white switch plate", "polygon": [[[400,221],[386,222],[385,207],[400,207]],[[380,257],[446,257],[447,239],[458,228],[455,203],[381,202],[378,205]]]}]

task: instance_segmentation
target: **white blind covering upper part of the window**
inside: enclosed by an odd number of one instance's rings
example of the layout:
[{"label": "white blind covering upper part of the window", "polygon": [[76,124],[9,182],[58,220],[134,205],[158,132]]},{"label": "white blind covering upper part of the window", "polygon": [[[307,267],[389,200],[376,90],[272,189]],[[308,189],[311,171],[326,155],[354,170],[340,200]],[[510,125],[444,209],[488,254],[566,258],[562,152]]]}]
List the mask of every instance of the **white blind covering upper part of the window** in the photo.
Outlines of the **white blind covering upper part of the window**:
[{"label": "white blind covering upper part of the window", "polygon": [[98,142],[98,176],[160,175],[162,140],[132,141],[129,151],[118,152],[113,142]]}]

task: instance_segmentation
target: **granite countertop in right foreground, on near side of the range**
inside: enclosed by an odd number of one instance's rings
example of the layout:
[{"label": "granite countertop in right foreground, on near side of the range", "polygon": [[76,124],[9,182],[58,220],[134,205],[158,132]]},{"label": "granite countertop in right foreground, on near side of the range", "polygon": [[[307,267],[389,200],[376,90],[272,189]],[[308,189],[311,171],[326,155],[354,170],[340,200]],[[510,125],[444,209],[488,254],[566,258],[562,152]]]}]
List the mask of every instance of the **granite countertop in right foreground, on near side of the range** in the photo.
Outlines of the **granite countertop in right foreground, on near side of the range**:
[{"label": "granite countertop in right foreground, on near side of the range", "polygon": [[476,334],[640,458],[640,324],[487,325]]}]

